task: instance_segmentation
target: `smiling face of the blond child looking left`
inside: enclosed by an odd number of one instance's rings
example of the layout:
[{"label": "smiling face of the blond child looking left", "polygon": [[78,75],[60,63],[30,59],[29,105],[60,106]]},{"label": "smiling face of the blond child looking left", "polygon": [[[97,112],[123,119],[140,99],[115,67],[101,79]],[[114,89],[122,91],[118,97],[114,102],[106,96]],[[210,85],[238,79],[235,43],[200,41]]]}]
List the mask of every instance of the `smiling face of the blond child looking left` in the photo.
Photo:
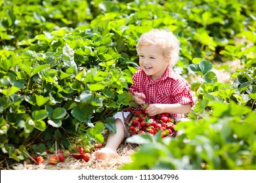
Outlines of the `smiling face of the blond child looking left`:
[{"label": "smiling face of the blond child looking left", "polygon": [[139,52],[140,67],[152,80],[160,78],[168,66],[163,50],[156,45],[142,45]]}]

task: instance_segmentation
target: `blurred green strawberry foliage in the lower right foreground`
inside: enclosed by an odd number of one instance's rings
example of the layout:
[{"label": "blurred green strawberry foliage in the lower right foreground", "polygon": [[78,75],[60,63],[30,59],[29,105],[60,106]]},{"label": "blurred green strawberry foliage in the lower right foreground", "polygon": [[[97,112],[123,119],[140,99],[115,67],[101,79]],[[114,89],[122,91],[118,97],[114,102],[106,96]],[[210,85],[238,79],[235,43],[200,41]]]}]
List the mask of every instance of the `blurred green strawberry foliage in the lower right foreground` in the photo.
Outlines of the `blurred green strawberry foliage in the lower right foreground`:
[{"label": "blurred green strawberry foliage in the lower right foreground", "polygon": [[211,116],[177,124],[175,138],[127,139],[141,146],[121,169],[255,169],[255,112],[234,102],[210,105]]}]

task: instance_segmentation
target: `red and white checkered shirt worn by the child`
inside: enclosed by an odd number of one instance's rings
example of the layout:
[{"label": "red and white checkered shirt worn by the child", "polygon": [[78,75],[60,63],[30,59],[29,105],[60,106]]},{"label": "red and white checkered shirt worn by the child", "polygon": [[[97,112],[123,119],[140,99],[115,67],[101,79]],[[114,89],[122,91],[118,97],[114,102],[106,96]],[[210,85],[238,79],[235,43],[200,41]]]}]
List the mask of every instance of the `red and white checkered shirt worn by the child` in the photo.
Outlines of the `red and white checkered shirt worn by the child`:
[{"label": "red and white checkered shirt worn by the child", "polygon": [[[144,102],[163,103],[163,104],[190,104],[194,105],[192,93],[188,82],[181,75],[175,73],[173,69],[167,67],[163,76],[154,81],[151,76],[147,76],[139,67],[133,75],[133,84],[129,88],[129,92],[144,93],[146,99]],[[172,114],[175,118],[184,118],[184,114]]]}]

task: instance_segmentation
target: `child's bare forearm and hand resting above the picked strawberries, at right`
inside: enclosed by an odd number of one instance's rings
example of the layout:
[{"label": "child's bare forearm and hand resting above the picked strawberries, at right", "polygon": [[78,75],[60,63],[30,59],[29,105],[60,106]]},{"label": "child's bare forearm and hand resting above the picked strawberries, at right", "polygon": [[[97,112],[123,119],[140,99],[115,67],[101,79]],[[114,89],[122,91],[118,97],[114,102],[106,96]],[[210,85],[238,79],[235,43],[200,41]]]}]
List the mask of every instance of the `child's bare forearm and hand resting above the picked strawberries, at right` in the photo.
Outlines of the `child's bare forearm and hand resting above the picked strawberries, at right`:
[{"label": "child's bare forearm and hand resting above the picked strawberries, at right", "polygon": [[183,114],[188,113],[191,110],[190,104],[182,105],[180,103],[175,104],[150,104],[148,108],[146,108],[146,113],[149,116],[155,116],[156,114],[161,113],[171,113],[171,114]]}]

